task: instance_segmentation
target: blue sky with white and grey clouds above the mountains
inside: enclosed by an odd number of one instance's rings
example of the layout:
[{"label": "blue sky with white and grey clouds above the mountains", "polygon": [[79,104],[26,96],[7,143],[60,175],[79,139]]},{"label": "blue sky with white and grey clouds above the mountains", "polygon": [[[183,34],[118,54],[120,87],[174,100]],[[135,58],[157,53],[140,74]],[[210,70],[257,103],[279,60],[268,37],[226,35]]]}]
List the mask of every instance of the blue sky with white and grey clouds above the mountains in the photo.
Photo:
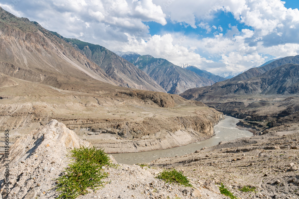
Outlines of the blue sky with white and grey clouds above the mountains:
[{"label": "blue sky with white and grey clouds above the mountains", "polygon": [[215,74],[299,54],[298,0],[1,0],[0,6],[67,38]]}]

